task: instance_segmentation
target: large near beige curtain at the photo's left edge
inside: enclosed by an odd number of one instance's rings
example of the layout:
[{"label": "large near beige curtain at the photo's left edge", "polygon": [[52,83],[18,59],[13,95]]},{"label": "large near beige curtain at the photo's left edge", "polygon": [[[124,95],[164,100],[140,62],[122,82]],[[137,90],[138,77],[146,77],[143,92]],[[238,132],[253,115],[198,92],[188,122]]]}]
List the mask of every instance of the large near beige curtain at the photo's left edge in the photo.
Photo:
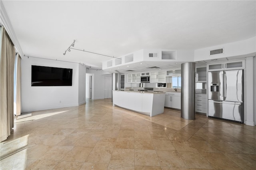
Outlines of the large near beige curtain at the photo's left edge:
[{"label": "large near beige curtain at the photo's left edge", "polygon": [[1,31],[0,55],[0,142],[11,134],[14,125],[15,49],[4,27]]}]

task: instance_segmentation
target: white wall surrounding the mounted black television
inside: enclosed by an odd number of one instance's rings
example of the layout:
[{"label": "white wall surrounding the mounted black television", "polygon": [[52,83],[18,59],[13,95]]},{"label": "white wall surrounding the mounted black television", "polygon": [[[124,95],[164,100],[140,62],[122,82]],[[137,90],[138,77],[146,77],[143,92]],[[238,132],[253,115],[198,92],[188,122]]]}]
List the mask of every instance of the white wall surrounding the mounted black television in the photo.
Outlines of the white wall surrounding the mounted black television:
[{"label": "white wall surrounding the mounted black television", "polygon": [[[31,65],[73,69],[72,86],[31,86]],[[76,63],[39,58],[21,60],[22,113],[78,105],[78,66]]]}]

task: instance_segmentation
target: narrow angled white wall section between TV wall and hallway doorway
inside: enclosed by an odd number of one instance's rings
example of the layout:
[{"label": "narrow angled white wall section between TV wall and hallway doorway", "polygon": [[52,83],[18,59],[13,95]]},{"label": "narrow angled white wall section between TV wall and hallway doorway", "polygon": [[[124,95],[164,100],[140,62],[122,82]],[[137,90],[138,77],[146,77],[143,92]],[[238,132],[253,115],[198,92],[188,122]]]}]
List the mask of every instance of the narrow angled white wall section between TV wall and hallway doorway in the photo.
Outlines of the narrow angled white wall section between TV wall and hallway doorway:
[{"label": "narrow angled white wall section between TV wall and hallway doorway", "polygon": [[78,72],[78,104],[82,105],[86,103],[86,67],[79,64],[78,65],[79,72]]}]

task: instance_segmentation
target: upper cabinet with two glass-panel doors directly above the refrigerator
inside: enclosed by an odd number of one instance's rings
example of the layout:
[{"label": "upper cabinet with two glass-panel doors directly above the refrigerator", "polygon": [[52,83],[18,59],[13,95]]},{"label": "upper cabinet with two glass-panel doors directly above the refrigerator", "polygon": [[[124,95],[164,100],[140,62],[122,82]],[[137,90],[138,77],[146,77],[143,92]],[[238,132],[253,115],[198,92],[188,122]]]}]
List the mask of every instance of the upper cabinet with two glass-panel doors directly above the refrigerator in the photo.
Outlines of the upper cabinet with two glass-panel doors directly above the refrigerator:
[{"label": "upper cabinet with two glass-panel doors directly above the refrigerator", "polygon": [[235,69],[245,69],[245,60],[234,60],[225,61],[222,63],[210,63],[207,64],[208,71],[222,71],[222,70],[235,70]]}]

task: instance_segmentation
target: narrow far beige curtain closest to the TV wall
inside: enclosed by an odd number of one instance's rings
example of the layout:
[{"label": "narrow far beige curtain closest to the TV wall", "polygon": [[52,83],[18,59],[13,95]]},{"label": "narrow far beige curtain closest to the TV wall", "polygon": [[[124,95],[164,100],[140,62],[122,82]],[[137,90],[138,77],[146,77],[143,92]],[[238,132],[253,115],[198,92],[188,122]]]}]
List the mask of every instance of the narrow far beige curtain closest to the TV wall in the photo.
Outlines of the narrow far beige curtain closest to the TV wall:
[{"label": "narrow far beige curtain closest to the TV wall", "polygon": [[[20,108],[20,77],[21,77],[21,71],[20,71],[20,55],[17,54],[16,56],[16,62],[17,62],[17,73],[16,73],[16,116],[20,115],[21,108]],[[14,94],[15,95],[15,94]]]}]

